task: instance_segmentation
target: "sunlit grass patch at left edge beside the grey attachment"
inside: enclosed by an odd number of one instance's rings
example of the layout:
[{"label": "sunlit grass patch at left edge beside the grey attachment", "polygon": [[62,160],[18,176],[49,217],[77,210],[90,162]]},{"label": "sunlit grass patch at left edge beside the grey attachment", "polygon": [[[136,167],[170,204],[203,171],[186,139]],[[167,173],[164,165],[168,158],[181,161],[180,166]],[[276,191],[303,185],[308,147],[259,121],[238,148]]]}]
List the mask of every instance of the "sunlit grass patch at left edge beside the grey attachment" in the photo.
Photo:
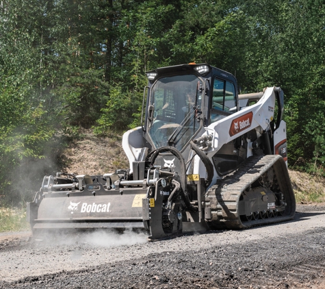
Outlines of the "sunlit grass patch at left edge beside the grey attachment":
[{"label": "sunlit grass patch at left edge beside the grey attachment", "polygon": [[0,232],[29,230],[26,209],[0,207]]}]

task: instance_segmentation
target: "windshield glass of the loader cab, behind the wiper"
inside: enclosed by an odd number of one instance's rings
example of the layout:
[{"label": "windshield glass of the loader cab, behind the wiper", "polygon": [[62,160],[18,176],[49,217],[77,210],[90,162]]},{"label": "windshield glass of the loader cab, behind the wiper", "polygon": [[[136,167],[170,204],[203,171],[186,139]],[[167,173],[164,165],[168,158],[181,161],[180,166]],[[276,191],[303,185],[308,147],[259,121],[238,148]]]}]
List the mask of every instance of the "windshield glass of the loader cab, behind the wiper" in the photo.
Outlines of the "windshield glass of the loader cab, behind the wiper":
[{"label": "windshield glass of the loader cab, behind the wiper", "polygon": [[153,118],[148,133],[155,147],[172,145],[181,151],[200,128],[203,84],[195,75],[158,79],[151,89]]}]

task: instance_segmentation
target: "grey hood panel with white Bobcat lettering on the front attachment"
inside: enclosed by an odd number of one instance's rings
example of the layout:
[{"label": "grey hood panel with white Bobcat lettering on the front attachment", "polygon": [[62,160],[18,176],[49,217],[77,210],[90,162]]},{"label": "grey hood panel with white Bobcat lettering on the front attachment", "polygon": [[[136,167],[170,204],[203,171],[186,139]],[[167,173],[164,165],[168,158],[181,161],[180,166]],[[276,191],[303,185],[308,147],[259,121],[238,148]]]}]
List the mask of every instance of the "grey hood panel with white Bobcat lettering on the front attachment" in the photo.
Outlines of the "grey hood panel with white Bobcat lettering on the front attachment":
[{"label": "grey hood panel with white Bobcat lettering on the front attachment", "polygon": [[43,229],[144,228],[142,198],[148,188],[105,190],[101,184],[82,191],[42,194],[39,205],[29,203],[33,231]]}]

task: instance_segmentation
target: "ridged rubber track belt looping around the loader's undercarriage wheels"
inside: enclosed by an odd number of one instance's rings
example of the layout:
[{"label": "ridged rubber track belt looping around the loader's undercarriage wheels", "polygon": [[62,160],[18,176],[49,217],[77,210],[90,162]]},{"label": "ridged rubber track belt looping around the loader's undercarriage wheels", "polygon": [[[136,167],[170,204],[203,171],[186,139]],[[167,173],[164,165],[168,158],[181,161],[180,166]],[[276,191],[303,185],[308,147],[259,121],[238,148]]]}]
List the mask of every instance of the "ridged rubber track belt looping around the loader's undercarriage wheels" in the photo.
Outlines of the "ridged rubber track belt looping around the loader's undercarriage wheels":
[{"label": "ridged rubber track belt looping around the loader's undercarriage wheels", "polygon": [[[283,216],[245,221],[242,223],[237,214],[239,197],[252,183],[270,168],[274,169],[278,187],[285,195],[287,206]],[[296,201],[291,187],[287,166],[280,155],[259,155],[245,160],[233,173],[222,179],[222,184],[209,188],[205,201],[211,208],[211,221],[207,223],[213,229],[246,229],[260,225],[280,223],[294,218]]]}]

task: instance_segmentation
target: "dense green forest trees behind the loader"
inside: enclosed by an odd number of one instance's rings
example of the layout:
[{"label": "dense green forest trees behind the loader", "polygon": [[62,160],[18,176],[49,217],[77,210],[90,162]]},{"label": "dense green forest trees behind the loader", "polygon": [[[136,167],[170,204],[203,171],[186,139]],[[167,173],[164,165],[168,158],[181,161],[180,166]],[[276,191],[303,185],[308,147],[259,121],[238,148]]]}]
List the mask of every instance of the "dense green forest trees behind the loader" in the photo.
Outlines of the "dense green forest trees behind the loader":
[{"label": "dense green forest trees behind the loader", "polygon": [[324,175],[324,1],[0,0],[0,204],[31,201],[80,127],[139,125],[145,71],[188,62],[281,86],[289,168]]}]

